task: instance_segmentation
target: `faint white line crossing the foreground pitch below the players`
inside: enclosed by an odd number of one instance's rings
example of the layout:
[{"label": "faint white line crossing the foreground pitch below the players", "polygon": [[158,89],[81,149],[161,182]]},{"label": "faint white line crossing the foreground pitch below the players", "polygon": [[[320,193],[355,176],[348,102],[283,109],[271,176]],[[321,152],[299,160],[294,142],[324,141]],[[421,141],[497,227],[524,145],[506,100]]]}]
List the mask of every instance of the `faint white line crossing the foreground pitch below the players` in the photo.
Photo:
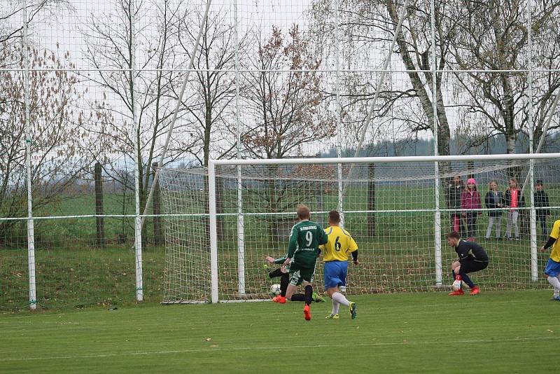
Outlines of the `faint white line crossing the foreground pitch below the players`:
[{"label": "faint white line crossing the foreground pitch below the players", "polygon": [[[492,343],[492,342],[521,342],[535,340],[560,340],[560,336],[540,336],[533,338],[509,338],[509,339],[474,339],[462,340],[463,343]],[[276,350],[276,349],[302,349],[302,348],[333,348],[333,347],[382,347],[388,345],[432,345],[432,344],[455,344],[456,340],[426,340],[423,342],[370,342],[356,344],[318,344],[318,345],[276,345],[270,347],[231,347],[231,348],[197,348],[197,349],[175,349],[172,351],[147,351],[147,352],[125,352],[108,354],[84,354],[76,356],[48,356],[48,357],[20,357],[0,359],[0,362],[7,361],[36,361],[36,360],[64,360],[64,359],[98,359],[102,357],[117,356],[148,356],[151,354],[175,354],[175,353],[195,353],[195,352],[223,352],[223,351],[251,351],[251,350]]]}]

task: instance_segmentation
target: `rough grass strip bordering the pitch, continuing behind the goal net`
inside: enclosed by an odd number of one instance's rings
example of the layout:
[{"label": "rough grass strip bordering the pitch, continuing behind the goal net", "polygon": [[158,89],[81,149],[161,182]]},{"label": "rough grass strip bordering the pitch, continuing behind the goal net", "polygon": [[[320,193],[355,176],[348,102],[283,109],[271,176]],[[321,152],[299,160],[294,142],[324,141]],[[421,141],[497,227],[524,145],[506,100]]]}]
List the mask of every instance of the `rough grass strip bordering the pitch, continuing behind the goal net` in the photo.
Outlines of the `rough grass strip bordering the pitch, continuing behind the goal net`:
[{"label": "rough grass strip bordering the pitch, continuing behind the goal net", "polygon": [[[220,295],[235,297],[237,293],[236,237],[230,237],[232,249],[221,250],[218,262]],[[531,280],[528,240],[496,242],[480,240],[490,257],[487,270],[476,276],[486,289],[535,289],[547,287],[544,278]],[[352,293],[394,293],[433,290],[435,263],[433,241],[424,237],[418,241],[380,239],[360,241],[360,265],[351,266],[349,290]],[[281,256],[282,242],[266,247],[269,254]],[[209,254],[205,254],[209,261]],[[260,242],[246,243],[246,291],[262,297],[268,292],[270,281],[263,272],[263,248]],[[83,247],[69,241],[61,247],[38,248],[36,258],[37,300],[41,309],[68,309],[96,305],[130,305],[135,303],[134,251],[127,245],[110,245],[105,249]],[[444,284],[449,285],[449,266],[456,254],[443,242],[442,265]],[[538,256],[539,276],[548,253]],[[202,260],[200,260],[202,261]],[[200,275],[200,266],[186,264],[177,275],[187,287],[181,297],[199,299],[200,290],[193,285]],[[166,271],[165,249],[152,247],[143,254],[144,298],[159,302],[164,298]],[[321,286],[323,265],[316,268],[316,284]],[[511,282],[503,284],[504,279]],[[178,284],[175,282],[174,284]],[[204,282],[204,286],[209,286]],[[186,295],[184,292],[192,292]],[[27,278],[27,250],[0,249],[0,311],[25,310],[29,300]],[[259,296],[261,295],[261,296]],[[207,291],[209,296],[209,291]]]}]

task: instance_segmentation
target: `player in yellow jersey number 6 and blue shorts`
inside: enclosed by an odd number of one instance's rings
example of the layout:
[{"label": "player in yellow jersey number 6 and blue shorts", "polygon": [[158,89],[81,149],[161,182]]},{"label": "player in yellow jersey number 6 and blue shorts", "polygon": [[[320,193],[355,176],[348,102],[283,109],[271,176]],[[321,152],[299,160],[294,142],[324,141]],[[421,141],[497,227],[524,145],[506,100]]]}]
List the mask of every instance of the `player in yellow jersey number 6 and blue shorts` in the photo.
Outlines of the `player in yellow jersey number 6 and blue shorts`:
[{"label": "player in yellow jersey number 6 and blue shorts", "polygon": [[336,210],[328,212],[328,224],[325,228],[328,242],[319,246],[325,261],[325,289],[332,299],[332,312],[327,319],[338,319],[340,304],[349,307],[352,319],[356,319],[356,303],[346,299],[339,290],[339,286],[346,286],[348,272],[348,255],[352,254],[354,265],[358,265],[358,245],[348,231],[339,227],[340,214]]}]

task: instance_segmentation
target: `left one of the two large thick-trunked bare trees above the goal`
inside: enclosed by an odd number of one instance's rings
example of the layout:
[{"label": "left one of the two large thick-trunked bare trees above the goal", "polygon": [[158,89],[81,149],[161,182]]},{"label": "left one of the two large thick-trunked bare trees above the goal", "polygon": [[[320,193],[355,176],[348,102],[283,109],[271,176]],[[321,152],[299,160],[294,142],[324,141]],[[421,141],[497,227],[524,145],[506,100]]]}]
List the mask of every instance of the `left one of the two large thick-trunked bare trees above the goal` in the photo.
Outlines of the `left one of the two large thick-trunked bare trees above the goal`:
[{"label": "left one of the two large thick-trunked bare trees above the goal", "polygon": [[[441,17],[447,7],[445,2],[436,2],[435,12],[435,60],[436,69],[448,67],[449,34],[455,25]],[[311,17],[314,20],[316,38],[323,48],[322,53],[332,58],[334,42],[332,1],[314,2]],[[402,5],[397,1],[340,1],[339,2],[339,38],[343,44],[342,64],[346,69],[363,69],[371,64],[379,64],[379,60],[370,60],[370,51],[379,51],[377,56],[385,56],[386,46],[391,43]],[[328,25],[325,19],[330,19]],[[445,22],[444,22],[445,21]],[[396,69],[407,69],[407,81],[398,79],[399,74],[393,73],[381,86],[379,104],[374,112],[375,126],[372,128],[370,141],[385,141],[398,144],[396,134],[405,139],[414,139],[422,132],[435,132],[433,97],[437,108],[437,152],[449,155],[450,120],[447,105],[444,102],[445,75],[435,75],[435,93],[433,91],[432,38],[430,25],[429,1],[411,1],[407,9],[406,19],[397,36],[396,49],[393,51],[398,60],[393,58]],[[369,102],[379,80],[379,74],[359,73],[342,76],[342,116],[346,133],[353,136],[353,143],[363,128],[364,118],[369,109]],[[331,91],[332,92],[332,91]],[[330,95],[334,95],[331,93]],[[397,123],[398,127],[394,127]],[[366,146],[367,148],[367,146]],[[442,171],[449,165],[442,163]]]}]

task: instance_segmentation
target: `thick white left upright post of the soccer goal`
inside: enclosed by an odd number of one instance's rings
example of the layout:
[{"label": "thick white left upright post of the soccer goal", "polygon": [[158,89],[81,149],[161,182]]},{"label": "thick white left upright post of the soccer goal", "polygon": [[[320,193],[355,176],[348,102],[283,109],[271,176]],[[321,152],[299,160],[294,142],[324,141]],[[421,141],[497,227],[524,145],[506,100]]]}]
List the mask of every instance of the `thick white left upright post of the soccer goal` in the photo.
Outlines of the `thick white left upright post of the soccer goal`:
[{"label": "thick white left upright post of the soccer goal", "polygon": [[[239,162],[241,160],[238,160]],[[218,303],[218,230],[216,228],[216,164],[208,162],[211,303]]]}]

